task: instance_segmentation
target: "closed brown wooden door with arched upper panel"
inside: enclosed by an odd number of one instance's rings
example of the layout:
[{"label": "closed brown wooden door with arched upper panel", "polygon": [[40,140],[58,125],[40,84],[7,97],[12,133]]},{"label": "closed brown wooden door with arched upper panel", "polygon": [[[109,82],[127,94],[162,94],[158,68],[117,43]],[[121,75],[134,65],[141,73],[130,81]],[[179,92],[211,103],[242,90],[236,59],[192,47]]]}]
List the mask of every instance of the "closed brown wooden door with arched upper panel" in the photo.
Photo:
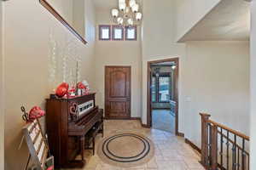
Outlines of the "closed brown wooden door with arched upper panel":
[{"label": "closed brown wooden door with arched upper panel", "polygon": [[131,66],[105,67],[105,116],[131,118]]}]

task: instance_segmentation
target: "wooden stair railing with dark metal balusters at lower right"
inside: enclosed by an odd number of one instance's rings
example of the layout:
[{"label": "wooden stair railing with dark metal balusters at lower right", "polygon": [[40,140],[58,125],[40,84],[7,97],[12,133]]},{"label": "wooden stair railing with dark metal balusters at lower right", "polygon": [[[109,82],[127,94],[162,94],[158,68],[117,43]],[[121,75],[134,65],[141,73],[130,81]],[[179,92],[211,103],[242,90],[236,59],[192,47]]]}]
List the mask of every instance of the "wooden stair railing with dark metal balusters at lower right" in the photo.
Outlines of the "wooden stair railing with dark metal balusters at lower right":
[{"label": "wooden stair railing with dark metal balusters at lower right", "polygon": [[201,164],[207,170],[249,170],[250,138],[201,113]]}]

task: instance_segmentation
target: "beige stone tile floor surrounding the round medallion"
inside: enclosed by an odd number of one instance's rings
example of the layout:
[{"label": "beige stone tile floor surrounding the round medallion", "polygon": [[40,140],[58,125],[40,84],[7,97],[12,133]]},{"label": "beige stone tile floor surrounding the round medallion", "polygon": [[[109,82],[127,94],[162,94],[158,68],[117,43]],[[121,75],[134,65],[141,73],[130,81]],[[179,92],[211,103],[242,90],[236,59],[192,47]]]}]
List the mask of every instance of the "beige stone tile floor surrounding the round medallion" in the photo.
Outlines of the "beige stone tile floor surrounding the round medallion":
[{"label": "beige stone tile floor surrounding the round medallion", "polygon": [[[142,133],[154,142],[154,157],[148,163],[139,167],[123,168],[113,167],[100,160],[95,154],[92,156],[90,150],[85,150],[84,155],[87,161],[83,169],[78,170],[204,170],[201,164],[199,154],[184,139],[157,129],[148,129],[141,126],[141,123],[135,121],[106,120],[105,135],[119,132]],[[96,141],[102,139],[98,135]],[[97,142],[96,142],[97,146]]]}]

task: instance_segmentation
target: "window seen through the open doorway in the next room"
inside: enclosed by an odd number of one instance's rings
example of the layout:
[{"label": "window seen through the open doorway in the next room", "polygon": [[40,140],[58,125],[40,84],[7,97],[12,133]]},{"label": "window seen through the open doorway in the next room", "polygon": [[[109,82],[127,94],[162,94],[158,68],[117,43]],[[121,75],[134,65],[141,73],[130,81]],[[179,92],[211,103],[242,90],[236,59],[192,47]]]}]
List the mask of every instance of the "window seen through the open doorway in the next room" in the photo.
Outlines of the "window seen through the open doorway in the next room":
[{"label": "window seen through the open doorway in the next room", "polygon": [[171,91],[171,77],[169,75],[160,75],[152,77],[151,100],[152,102],[169,102]]}]

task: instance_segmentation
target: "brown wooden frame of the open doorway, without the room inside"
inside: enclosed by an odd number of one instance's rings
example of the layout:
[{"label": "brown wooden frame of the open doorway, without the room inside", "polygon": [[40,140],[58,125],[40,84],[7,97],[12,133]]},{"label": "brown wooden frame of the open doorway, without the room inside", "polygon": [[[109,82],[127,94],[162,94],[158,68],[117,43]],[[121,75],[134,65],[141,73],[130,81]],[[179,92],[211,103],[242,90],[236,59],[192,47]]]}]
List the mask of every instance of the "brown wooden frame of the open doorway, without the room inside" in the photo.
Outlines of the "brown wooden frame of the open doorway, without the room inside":
[{"label": "brown wooden frame of the open doorway, without the room inside", "polygon": [[147,77],[147,127],[152,127],[152,106],[151,106],[151,93],[150,93],[150,85],[151,85],[151,64],[162,63],[162,62],[170,62],[174,61],[176,66],[176,71],[174,74],[175,77],[175,90],[174,90],[174,100],[176,101],[176,116],[175,116],[175,134],[178,136],[183,136],[183,133],[178,132],[178,74],[179,74],[179,58],[170,58],[170,59],[158,59],[148,61],[148,77]]}]

